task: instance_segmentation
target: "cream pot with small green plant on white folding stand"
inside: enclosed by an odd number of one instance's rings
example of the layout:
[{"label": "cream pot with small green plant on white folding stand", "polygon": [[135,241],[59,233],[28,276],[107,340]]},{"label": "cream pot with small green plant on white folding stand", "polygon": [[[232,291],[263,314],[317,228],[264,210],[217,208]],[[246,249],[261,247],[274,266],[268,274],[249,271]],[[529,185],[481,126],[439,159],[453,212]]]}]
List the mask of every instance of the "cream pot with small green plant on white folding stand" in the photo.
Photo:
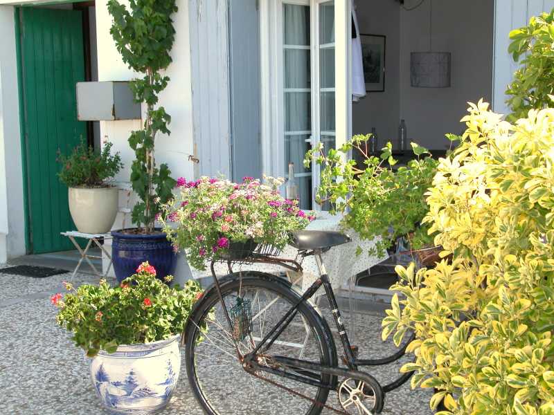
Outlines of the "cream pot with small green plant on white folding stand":
[{"label": "cream pot with small green plant on white folding stand", "polygon": [[69,212],[79,232],[109,232],[118,212],[118,189],[107,182],[123,163],[119,153],[111,156],[111,142],[95,151],[84,140],[69,156],[59,154],[62,169],[57,174],[69,188]]}]

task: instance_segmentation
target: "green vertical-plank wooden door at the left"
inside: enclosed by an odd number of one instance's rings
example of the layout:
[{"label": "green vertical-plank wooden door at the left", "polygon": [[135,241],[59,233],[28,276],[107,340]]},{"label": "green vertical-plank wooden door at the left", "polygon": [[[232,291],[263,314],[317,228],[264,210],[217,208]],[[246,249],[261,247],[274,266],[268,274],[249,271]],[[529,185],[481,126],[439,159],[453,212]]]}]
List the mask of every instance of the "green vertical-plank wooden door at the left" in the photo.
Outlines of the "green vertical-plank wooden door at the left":
[{"label": "green vertical-plank wooden door at the left", "polygon": [[58,181],[57,150],[86,138],[77,120],[75,83],[84,81],[82,16],[78,10],[24,7],[19,15],[21,133],[30,253],[73,249],[60,232],[74,230],[67,187]]}]

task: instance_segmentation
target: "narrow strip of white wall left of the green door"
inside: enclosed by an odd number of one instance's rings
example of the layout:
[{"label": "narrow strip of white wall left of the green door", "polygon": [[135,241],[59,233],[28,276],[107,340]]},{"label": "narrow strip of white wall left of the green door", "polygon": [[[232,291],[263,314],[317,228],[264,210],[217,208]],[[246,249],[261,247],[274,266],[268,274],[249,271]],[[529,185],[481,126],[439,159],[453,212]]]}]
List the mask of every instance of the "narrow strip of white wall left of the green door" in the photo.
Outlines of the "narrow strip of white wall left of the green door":
[{"label": "narrow strip of white wall left of the green door", "polygon": [[[19,95],[12,6],[0,6],[0,263],[25,254]],[[8,197],[9,195],[9,197]]]}]

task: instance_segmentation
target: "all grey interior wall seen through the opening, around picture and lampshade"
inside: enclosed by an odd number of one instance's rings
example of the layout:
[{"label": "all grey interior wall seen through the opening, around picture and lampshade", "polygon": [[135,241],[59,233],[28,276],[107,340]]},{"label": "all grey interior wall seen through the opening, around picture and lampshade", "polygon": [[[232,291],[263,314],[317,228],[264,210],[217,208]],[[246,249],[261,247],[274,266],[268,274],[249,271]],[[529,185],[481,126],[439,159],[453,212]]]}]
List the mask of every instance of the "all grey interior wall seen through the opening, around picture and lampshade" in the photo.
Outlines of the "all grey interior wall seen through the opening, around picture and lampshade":
[{"label": "all grey interior wall seen through the opening, around picture and lampshade", "polygon": [[[405,0],[410,8],[420,0]],[[452,86],[410,86],[410,52],[429,49],[429,5],[402,9],[393,0],[355,0],[361,33],[386,35],[385,91],[352,104],[352,131],[377,129],[379,142],[394,140],[400,118],[408,139],[445,149],[445,133],[460,133],[467,101],[492,99],[493,0],[434,0],[433,49],[452,53]]]}]

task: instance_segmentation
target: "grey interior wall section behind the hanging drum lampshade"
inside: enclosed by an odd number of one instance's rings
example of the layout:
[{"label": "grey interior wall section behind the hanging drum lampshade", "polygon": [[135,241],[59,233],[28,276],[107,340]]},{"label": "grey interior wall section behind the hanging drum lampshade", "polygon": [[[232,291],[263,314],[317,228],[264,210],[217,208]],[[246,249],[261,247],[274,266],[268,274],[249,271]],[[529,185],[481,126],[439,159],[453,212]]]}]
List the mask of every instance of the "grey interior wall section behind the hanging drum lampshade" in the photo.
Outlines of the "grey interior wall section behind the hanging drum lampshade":
[{"label": "grey interior wall section behind the hanging drum lampshade", "polygon": [[[419,0],[406,0],[406,7]],[[460,133],[467,101],[492,100],[493,0],[434,0],[432,45],[452,53],[450,88],[410,86],[410,52],[429,49],[429,6],[400,11],[400,117],[408,139],[429,149],[445,149],[445,133]]]}]

